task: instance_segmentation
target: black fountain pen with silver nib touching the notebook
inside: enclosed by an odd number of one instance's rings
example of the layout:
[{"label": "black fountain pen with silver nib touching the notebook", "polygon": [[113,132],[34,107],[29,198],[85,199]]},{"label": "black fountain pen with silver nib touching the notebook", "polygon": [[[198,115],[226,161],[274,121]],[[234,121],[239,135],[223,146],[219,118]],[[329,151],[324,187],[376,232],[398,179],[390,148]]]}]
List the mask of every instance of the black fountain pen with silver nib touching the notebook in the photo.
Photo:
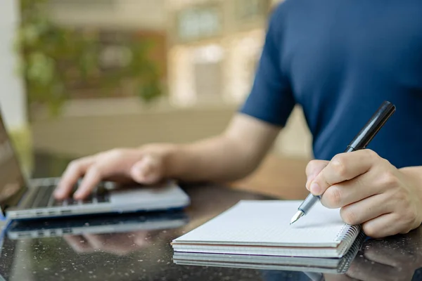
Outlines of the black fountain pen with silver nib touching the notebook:
[{"label": "black fountain pen with silver nib touching the notebook", "polygon": [[[380,131],[385,122],[395,112],[395,105],[385,101],[369,119],[369,122],[362,128],[361,131],[354,137],[350,145],[347,145],[345,152],[352,152],[366,148],[373,137]],[[314,204],[321,199],[321,196],[309,194],[306,199],[298,207],[298,212],[292,217],[290,224],[298,221],[299,218],[305,216],[309,210],[314,207]]]}]

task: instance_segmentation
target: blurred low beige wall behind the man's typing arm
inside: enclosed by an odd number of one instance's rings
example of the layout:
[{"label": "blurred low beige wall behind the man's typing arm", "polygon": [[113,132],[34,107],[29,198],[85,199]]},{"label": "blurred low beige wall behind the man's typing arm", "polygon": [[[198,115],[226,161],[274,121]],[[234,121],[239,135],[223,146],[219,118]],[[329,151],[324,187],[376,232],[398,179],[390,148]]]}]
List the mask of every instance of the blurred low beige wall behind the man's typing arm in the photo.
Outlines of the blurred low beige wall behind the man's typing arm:
[{"label": "blurred low beige wall behind the man's typing arm", "polygon": [[[91,155],[151,142],[186,143],[221,133],[237,107],[218,105],[148,110],[136,99],[72,100],[59,118],[37,115],[34,148],[60,154]],[[282,157],[309,159],[311,136],[296,107],[274,145]]]}]

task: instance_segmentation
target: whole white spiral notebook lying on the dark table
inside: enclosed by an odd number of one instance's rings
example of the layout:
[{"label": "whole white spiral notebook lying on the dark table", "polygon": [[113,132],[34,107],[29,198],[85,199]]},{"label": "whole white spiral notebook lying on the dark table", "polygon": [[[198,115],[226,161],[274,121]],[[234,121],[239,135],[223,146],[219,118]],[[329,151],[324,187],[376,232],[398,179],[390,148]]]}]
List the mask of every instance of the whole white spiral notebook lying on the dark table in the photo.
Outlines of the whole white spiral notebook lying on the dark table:
[{"label": "whole white spiral notebook lying on the dark table", "polygon": [[174,251],[210,254],[339,258],[361,232],[340,217],[340,209],[317,203],[290,225],[300,201],[243,200],[172,241]]}]

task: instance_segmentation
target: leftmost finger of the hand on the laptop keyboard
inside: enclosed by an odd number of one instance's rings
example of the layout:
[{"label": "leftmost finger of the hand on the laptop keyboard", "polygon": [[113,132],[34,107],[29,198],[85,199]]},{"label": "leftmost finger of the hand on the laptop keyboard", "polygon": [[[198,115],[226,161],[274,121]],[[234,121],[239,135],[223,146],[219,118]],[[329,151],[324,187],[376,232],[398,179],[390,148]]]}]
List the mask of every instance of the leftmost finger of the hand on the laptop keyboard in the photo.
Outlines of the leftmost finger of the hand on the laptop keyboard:
[{"label": "leftmost finger of the hand on the laptop keyboard", "polygon": [[60,183],[58,183],[56,190],[54,190],[54,197],[57,200],[64,200],[68,197],[79,178],[84,176],[92,163],[94,163],[94,157],[84,157],[70,162],[68,168],[60,178]]}]

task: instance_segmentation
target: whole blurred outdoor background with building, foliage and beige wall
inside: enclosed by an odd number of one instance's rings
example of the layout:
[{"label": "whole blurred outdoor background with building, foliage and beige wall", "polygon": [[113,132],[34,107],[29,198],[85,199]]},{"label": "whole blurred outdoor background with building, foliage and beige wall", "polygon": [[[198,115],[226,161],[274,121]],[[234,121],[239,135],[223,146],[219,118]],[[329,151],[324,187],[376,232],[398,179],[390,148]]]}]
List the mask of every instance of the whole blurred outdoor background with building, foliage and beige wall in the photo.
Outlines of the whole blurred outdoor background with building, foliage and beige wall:
[{"label": "whole blurred outdoor background with building, foliage and beige wall", "polygon": [[[279,2],[0,1],[0,106],[25,167],[34,150],[80,157],[221,133]],[[311,141],[297,107],[270,157],[304,163]]]}]

